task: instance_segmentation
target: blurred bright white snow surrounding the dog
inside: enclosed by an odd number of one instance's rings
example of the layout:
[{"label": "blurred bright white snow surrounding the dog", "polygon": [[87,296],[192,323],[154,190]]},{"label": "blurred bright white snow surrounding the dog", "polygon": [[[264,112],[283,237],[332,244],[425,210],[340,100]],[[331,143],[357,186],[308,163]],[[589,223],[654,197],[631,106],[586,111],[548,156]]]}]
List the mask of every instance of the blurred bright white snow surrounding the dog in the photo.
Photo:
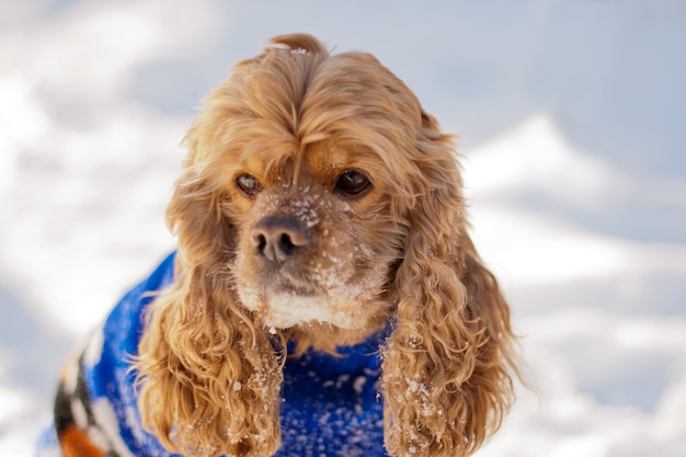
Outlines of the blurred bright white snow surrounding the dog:
[{"label": "blurred bright white snow surrounding the dog", "polygon": [[461,136],[540,398],[479,456],[686,455],[686,2],[0,1],[0,455],[173,249],[199,100],[268,37],[375,54]]}]

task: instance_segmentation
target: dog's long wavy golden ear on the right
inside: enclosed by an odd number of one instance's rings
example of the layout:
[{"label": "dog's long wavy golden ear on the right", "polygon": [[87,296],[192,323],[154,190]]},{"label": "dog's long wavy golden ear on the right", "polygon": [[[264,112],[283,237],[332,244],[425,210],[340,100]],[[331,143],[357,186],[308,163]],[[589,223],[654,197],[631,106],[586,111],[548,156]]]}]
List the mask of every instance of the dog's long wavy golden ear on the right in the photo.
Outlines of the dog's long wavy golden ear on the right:
[{"label": "dog's long wavy golden ear on the right", "polygon": [[423,178],[384,354],[385,439],[391,455],[468,456],[512,404],[514,336],[498,282],[466,231],[451,138],[428,115],[423,124]]}]

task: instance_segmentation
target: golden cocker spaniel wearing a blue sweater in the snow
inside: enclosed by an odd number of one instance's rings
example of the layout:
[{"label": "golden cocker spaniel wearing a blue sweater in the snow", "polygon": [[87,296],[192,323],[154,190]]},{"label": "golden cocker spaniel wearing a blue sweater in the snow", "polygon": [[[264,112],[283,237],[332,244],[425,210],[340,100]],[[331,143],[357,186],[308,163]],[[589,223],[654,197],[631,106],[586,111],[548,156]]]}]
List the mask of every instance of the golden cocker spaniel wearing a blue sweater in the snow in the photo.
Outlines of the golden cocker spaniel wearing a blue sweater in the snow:
[{"label": "golden cocker spaniel wearing a blue sweater in the snow", "polygon": [[400,79],[276,36],[184,142],[178,250],[65,370],[43,455],[455,457],[499,429],[510,309]]}]

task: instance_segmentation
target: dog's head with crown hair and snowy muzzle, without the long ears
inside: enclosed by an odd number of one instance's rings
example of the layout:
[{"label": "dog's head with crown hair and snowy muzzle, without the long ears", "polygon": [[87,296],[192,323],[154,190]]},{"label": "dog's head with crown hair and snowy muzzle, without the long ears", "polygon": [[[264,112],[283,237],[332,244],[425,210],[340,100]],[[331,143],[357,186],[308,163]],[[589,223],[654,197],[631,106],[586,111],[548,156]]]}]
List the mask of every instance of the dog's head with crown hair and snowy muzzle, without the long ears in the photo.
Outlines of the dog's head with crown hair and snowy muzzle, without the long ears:
[{"label": "dog's head with crown hair and snowy muzzle, without the long ears", "polygon": [[238,66],[188,134],[188,181],[217,196],[231,229],[206,237],[225,233],[232,287],[264,327],[363,336],[395,306],[408,208],[432,185],[413,157],[430,121],[374,57],[317,59],[275,49]]}]

